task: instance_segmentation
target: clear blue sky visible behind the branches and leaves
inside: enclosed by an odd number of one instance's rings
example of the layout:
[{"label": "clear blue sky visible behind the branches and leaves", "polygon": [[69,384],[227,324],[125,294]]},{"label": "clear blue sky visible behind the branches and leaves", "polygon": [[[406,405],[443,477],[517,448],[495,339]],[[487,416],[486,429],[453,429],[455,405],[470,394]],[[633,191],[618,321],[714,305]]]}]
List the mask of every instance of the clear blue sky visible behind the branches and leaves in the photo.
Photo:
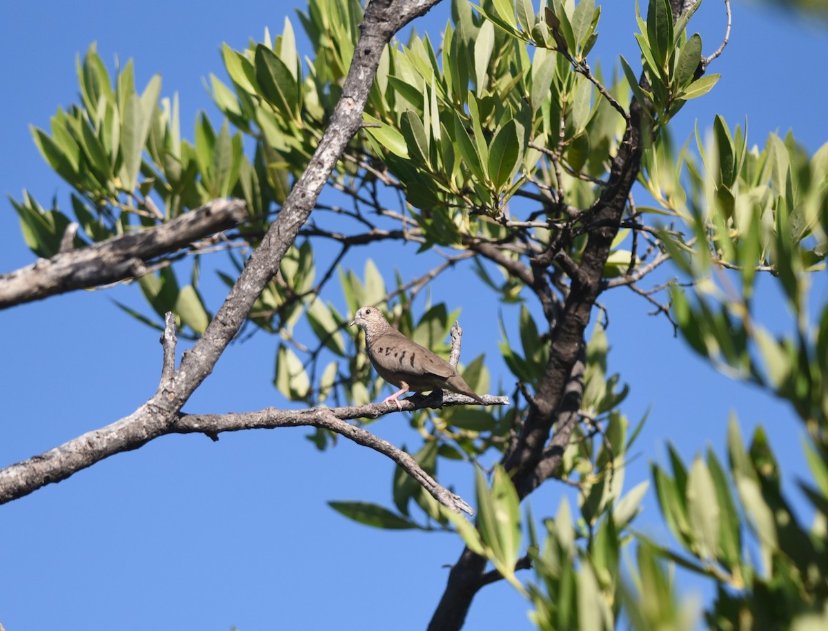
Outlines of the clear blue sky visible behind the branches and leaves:
[{"label": "clear blue sky visible behind the branches and leaves", "polygon": [[[224,77],[219,47],[242,48],[265,26],[281,31],[286,4],[237,0],[12,2],[0,22],[0,192],[23,188],[47,203],[65,186],[42,161],[29,124],[46,128],[58,105],[76,99],[75,55],[97,41],[113,66],[132,57],[137,83],[160,73],[162,94],[181,98],[188,137],[196,113],[214,115],[203,81]],[[615,55],[636,59],[633,2],[608,2],[593,53],[605,68]],[[297,31],[298,21],[290,11]],[[416,22],[439,38],[449,4]],[[708,0],[691,31],[705,52],[724,33],[724,8]],[[819,60],[828,28],[744,3],[734,6],[731,43],[710,68],[724,76],[708,98],[676,121],[683,139],[696,120],[710,128],[715,113],[729,123],[749,119],[749,139],[790,128],[811,151],[828,140],[826,88]],[[815,72],[816,70],[816,72]],[[219,120],[214,118],[214,120]],[[31,263],[17,215],[0,200],[0,272]],[[386,281],[394,263],[378,258]],[[404,278],[413,272],[402,268]],[[463,308],[464,356],[498,354],[494,315],[481,315],[479,287],[458,269],[434,288],[436,301]],[[161,370],[156,331],[123,315],[114,297],[140,305],[135,287],[79,291],[2,312],[0,466],[23,460],[132,412],[155,391]],[[484,296],[485,297],[485,296]],[[815,290],[825,301],[825,283]],[[215,310],[222,296],[209,296]],[[768,300],[773,296],[768,294]],[[761,421],[787,471],[802,470],[801,432],[786,407],[753,388],[729,382],[672,338],[664,320],[628,292],[605,303],[612,314],[610,368],[632,386],[623,410],[633,421],[652,406],[628,468],[631,487],[663,461],[665,441],[689,460],[724,443],[729,412],[745,434]],[[768,304],[768,312],[784,310]],[[485,312],[483,312],[485,313]],[[271,386],[277,340],[257,335],[234,344],[185,407],[188,412],[257,410],[282,405]],[[494,383],[498,365],[493,360]],[[508,384],[511,390],[511,384]],[[402,445],[416,440],[405,421],[372,426]],[[438,533],[381,532],[334,513],[331,499],[390,503],[392,465],[383,456],[340,441],[320,454],[306,431],[241,432],[213,443],[171,436],[94,465],[60,484],[0,507],[0,622],[7,629],[423,629],[439,600],[460,545]],[[469,470],[440,473],[472,497]],[[547,485],[532,499],[536,515],[556,510],[561,488]],[[661,533],[652,494],[638,526]],[[688,586],[698,590],[699,585]],[[468,629],[531,628],[525,604],[507,585],[487,587],[475,600]]]}]

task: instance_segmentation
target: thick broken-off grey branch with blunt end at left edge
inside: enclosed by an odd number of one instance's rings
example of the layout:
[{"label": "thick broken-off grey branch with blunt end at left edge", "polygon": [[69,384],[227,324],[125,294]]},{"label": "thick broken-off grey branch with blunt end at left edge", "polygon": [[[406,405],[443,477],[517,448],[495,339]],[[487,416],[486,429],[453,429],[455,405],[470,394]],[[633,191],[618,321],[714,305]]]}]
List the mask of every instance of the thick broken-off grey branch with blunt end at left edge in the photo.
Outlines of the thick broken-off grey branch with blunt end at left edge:
[{"label": "thick broken-off grey branch with blunt end at left edge", "polygon": [[213,200],[155,228],[109,238],[80,250],[62,248],[52,258],[40,258],[0,276],[0,309],[142,276],[147,273],[147,261],[233,228],[243,222],[245,214],[241,200]]}]

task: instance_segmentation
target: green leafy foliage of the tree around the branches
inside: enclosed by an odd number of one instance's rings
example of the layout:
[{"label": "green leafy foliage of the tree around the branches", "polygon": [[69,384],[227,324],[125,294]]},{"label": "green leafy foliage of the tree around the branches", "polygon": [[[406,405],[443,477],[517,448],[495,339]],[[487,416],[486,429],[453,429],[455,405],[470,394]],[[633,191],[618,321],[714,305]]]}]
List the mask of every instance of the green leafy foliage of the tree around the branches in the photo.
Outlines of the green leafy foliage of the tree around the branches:
[{"label": "green leafy foliage of the tree around the branches", "polygon": [[[671,119],[718,80],[705,72],[712,57],[704,57],[700,36],[687,31],[698,4],[674,19],[670,2],[650,0],[634,35],[640,58],[619,57],[613,79],[588,63],[600,18],[593,0],[551,0],[537,14],[527,0],[479,7],[455,0],[439,44],[412,32],[405,44],[388,46],[363,132],[330,178],[339,194],[320,203],[249,315],[257,330],[280,336],[278,392],[318,406],[367,403],[383,388],[359,341],[344,335],[358,306],[379,306],[402,333],[445,354],[458,313],[441,301],[413,304],[445,269],[469,259],[493,300],[520,303],[517,325],[500,320],[499,349],[517,383],[513,406],[421,410],[409,421],[412,452],[426,472],[436,476],[446,460],[474,469],[476,524],[446,513],[402,470],[392,479],[393,508],[331,506],[373,527],[456,531],[527,597],[542,629],[613,629],[622,615],[637,629],[689,628],[693,612],[678,604],[665,559],[718,585],[705,609],[716,628],[805,629],[828,611],[828,310],[814,318],[806,304],[807,272],[825,264],[828,145],[809,157],[792,137],[771,135],[760,150],[717,116],[710,137],[696,132],[696,152],[689,144],[676,150]],[[232,287],[243,267],[239,248],[259,243],[325,133],[362,12],[356,0],[310,0],[299,14],[314,53],[306,62],[290,20],[281,34],[266,31],[243,50],[224,45],[229,80],[211,75],[210,87],[225,118],[215,125],[200,114],[194,142],[181,138],[177,100],[159,101],[159,77],[139,93],[131,61],[111,79],[91,47],[78,63],[80,103],[59,109],[50,131],[32,130],[46,161],[74,189],[76,246],[238,196],[247,201],[248,222],[224,240],[190,248],[226,250],[232,271],[220,277]],[[619,166],[636,131],[642,146],[629,159],[640,165]],[[527,493],[505,464],[542,407],[552,344],[571,311],[565,306],[588,284],[590,243],[606,228],[593,219],[609,205],[623,168],[637,176],[634,195],[645,205],[621,196],[596,291],[633,287],[717,368],[791,403],[810,436],[813,480],[801,483],[817,516],[810,529],[782,493],[763,432],[745,449],[733,422],[727,468],[712,450],[689,468],[671,450],[672,472],[652,468],[681,552],[635,532],[647,484],[624,493],[623,473],[640,425],[630,431],[621,412],[627,387],[608,373],[600,325],[589,344],[580,340],[585,369],[570,410],[575,428],[560,453],[549,455],[560,459],[553,477],[575,487],[577,511],[566,496],[540,522],[528,503],[521,508]],[[41,257],[56,253],[69,216],[28,192],[12,204],[29,247]],[[346,267],[355,248],[383,242],[414,242],[424,258],[443,258],[411,281],[397,272],[392,288],[370,258],[361,272]],[[554,254],[550,262],[537,263],[546,253]],[[639,283],[668,260],[687,283],[670,283],[662,303],[653,296],[663,287]],[[182,287],[175,263],[162,257],[159,270],[139,281],[156,315],[131,312],[157,325],[174,311],[199,335],[210,315],[198,265]],[[792,311],[787,335],[774,338],[762,325],[754,300],[759,274],[773,278]],[[507,388],[491,383],[483,356],[463,373],[475,391]],[[566,409],[553,412],[561,431]],[[319,430],[309,439],[325,449],[334,435]],[[534,568],[531,579],[517,571],[523,561]]]}]

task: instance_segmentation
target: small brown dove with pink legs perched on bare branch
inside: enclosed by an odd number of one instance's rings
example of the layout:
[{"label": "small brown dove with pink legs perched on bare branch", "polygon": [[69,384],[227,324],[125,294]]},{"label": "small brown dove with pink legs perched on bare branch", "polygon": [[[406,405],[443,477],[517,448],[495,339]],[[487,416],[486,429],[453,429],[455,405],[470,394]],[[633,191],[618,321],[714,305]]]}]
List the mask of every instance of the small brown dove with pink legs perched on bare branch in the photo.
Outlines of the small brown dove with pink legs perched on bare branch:
[{"label": "small brown dove with pink legs perched on bare branch", "polygon": [[377,307],[360,307],[354,320],[349,323],[349,326],[354,325],[361,326],[365,331],[365,350],[379,376],[400,388],[383,403],[393,401],[397,404],[397,409],[402,410],[399,397],[409,390],[415,393],[449,390],[465,394],[485,405],[484,400],[460,377],[456,368],[392,328]]}]

